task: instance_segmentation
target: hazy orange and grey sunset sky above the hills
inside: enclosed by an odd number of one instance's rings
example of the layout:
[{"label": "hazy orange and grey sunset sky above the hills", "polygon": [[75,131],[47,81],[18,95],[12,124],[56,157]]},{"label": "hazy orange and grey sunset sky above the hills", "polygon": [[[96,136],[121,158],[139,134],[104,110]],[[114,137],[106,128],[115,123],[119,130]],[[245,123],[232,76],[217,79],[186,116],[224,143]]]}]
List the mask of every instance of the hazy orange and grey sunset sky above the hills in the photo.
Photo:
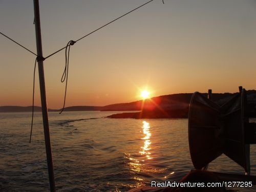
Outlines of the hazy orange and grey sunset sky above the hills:
[{"label": "hazy orange and grey sunset sky above the hills", "polygon": [[[144,0],[39,1],[46,57]],[[0,32],[36,53],[33,1],[0,0]],[[0,106],[32,105],[35,56],[0,34]],[[155,0],[70,50],[66,106],[256,89],[255,0]],[[44,61],[48,107],[63,105],[65,51]],[[38,70],[35,105],[40,106]]]}]

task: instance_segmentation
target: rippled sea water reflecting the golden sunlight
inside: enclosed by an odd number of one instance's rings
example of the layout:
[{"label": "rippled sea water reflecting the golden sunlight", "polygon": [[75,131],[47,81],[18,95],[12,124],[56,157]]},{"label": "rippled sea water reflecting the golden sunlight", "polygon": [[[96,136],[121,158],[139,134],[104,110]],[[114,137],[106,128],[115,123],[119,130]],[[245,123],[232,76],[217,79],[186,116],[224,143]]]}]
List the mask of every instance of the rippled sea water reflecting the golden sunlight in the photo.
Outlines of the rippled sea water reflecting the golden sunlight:
[{"label": "rippled sea water reflecting the golden sunlight", "polygon": [[[49,113],[57,191],[126,191],[152,180],[178,181],[193,169],[187,119],[103,118],[113,113]],[[31,144],[30,123],[30,113],[0,113],[0,191],[49,190],[41,113],[35,113]],[[251,145],[252,175],[255,165]],[[244,174],[224,155],[209,170]]]}]

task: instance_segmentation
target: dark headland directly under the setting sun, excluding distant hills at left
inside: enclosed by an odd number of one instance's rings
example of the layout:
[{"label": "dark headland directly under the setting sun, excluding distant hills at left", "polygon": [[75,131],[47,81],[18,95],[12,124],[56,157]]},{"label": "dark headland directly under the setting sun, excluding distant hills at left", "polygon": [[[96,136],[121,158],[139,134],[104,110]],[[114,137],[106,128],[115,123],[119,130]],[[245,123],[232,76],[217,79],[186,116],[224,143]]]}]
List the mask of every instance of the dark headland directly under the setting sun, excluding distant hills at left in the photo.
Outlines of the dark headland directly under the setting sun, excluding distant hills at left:
[{"label": "dark headland directly under the setting sun, excluding distant hills at left", "polygon": [[[237,93],[214,93],[212,100],[219,105],[227,102],[234,94]],[[120,103],[107,105],[102,108],[102,111],[129,111],[135,110],[140,112],[120,113],[108,116],[108,118],[135,118],[135,119],[151,119],[151,118],[187,118],[189,103],[192,93],[181,93],[173,95],[163,95],[135,101],[131,103]],[[207,97],[207,93],[204,93]],[[247,91],[248,110],[250,117],[256,117],[256,91]]]}]

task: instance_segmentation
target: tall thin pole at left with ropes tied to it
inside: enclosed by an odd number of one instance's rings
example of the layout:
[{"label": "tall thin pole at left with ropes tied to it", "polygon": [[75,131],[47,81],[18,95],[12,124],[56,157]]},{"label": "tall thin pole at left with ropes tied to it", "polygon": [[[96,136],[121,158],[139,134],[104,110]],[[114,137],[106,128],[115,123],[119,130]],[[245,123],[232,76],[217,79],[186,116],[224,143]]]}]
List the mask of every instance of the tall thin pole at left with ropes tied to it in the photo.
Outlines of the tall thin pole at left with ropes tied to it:
[{"label": "tall thin pole at left with ropes tied to it", "polygon": [[49,122],[48,122],[48,109],[47,109],[46,88],[45,88],[44,62],[43,62],[44,58],[42,57],[42,41],[41,41],[41,27],[40,27],[40,14],[39,14],[38,0],[34,0],[34,15],[35,15],[35,35],[36,35],[37,62],[38,62],[41,107],[42,107],[42,120],[44,123],[45,145],[46,145],[48,173],[49,173],[49,180],[50,180],[50,190],[53,192],[55,191],[55,182],[54,182],[54,173],[53,173]]}]

